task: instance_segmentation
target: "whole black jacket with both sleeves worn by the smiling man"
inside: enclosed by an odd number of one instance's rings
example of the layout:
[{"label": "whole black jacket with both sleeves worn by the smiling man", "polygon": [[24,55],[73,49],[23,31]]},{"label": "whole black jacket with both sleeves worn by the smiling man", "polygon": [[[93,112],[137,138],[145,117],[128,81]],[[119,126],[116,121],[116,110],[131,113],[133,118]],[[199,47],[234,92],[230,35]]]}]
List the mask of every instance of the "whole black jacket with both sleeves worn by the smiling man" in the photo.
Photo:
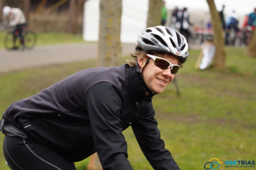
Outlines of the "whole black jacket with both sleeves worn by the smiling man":
[{"label": "whole black jacket with both sleeves worn by the smiling man", "polygon": [[97,152],[105,170],[132,169],[122,134],[131,125],[154,169],[178,170],[141,89],[136,69],[128,64],[85,69],[11,104],[3,118],[67,161]]}]

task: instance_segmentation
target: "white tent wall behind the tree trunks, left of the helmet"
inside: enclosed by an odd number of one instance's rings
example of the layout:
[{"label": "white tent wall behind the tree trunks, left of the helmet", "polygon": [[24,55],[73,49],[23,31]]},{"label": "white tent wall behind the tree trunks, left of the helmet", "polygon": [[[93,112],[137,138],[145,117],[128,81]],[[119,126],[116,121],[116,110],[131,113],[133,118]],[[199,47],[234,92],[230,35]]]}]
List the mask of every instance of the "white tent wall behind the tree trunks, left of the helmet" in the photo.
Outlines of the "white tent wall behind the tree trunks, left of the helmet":
[{"label": "white tent wall behind the tree trunks, left of the helmet", "polygon": [[[146,29],[148,0],[122,0],[121,35],[123,43],[136,43],[137,36]],[[84,4],[83,39],[98,41],[99,0],[88,0]]]}]

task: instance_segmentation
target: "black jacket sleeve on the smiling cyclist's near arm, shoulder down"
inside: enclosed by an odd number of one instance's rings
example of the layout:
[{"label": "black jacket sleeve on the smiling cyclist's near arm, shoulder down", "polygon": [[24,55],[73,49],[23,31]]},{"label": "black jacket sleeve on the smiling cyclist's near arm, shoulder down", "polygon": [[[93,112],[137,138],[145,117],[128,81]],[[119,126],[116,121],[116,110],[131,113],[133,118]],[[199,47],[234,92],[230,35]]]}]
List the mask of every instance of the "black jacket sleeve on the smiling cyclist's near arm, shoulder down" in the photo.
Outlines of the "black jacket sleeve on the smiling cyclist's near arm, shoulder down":
[{"label": "black jacket sleeve on the smiling cyclist's near arm, shoulder down", "polygon": [[132,170],[122,134],[122,93],[113,84],[95,84],[85,96],[94,144],[104,170]]}]

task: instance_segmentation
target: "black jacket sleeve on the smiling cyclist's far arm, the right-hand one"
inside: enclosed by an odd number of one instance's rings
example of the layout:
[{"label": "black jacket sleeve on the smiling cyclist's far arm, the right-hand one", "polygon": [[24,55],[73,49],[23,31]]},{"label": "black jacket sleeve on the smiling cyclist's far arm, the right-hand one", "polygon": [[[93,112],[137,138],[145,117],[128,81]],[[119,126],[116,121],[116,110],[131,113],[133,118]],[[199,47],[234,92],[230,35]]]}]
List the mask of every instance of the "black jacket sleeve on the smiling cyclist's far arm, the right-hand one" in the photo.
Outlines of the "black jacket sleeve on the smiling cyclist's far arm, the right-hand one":
[{"label": "black jacket sleeve on the smiling cyclist's far arm, the right-hand one", "polygon": [[131,124],[134,135],[146,159],[154,170],[180,170],[160,138],[152,103],[149,103],[139,120]]}]

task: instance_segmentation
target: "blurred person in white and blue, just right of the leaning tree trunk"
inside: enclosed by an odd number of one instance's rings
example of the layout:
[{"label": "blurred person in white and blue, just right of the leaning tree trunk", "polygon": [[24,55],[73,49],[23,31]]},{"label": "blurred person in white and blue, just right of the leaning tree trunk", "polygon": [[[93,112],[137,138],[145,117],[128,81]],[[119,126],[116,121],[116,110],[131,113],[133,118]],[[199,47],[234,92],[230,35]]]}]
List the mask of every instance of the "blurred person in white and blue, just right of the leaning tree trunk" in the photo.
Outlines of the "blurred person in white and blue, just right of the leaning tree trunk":
[{"label": "blurred person in white and blue, just right of the leaning tree trunk", "polygon": [[233,10],[228,16],[226,20],[226,37],[225,44],[228,45],[228,37],[231,27],[235,29],[235,32],[239,30],[238,28],[238,16],[236,12]]}]

